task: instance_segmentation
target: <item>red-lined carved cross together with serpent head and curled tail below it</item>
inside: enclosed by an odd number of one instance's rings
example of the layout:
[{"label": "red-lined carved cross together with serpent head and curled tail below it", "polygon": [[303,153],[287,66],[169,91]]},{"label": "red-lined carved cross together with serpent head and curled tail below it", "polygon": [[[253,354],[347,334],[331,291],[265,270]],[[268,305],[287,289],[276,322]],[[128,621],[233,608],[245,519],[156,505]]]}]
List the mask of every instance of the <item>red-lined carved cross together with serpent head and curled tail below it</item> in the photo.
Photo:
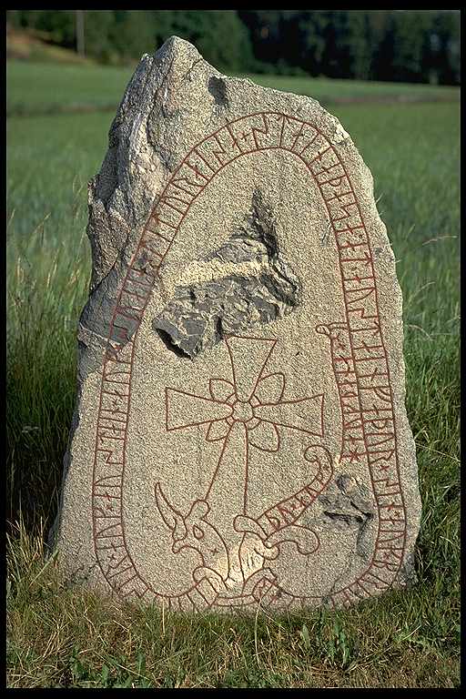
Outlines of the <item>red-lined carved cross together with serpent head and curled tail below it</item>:
[{"label": "red-lined carved cross together with serpent head and curled tail below it", "polygon": [[[283,430],[299,431],[309,439],[321,437],[323,395],[286,397],[283,373],[268,373],[266,369],[276,339],[230,336],[226,343],[231,380],[209,380],[208,397],[166,390],[167,431],[204,425],[206,440],[222,443],[206,494],[183,516],[167,500],[160,483],[155,491],[158,512],[172,534],[172,551],[191,548],[198,553],[199,564],[191,573],[192,579],[198,583],[207,579],[217,592],[217,604],[232,599],[232,590],[238,586],[244,596],[251,580],[255,584],[264,577],[275,581],[266,562],[277,559],[280,543],[294,542],[301,555],[319,548],[317,534],[295,522],[332,474],[328,453],[311,445],[304,449],[303,456],[317,472],[306,489],[275,503],[257,519],[249,515],[250,451],[279,451]],[[209,522],[209,518],[214,522],[220,519],[217,509],[223,522],[221,532],[218,524]]]}]

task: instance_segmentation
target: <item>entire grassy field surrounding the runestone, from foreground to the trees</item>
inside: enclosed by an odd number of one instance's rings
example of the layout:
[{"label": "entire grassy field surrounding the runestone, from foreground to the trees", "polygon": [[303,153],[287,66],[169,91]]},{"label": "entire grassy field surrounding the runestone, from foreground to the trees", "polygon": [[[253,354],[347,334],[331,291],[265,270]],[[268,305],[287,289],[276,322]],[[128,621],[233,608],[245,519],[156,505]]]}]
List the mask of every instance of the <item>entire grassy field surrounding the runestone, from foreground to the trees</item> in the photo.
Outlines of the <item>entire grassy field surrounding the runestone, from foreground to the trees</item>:
[{"label": "entire grassy field surrounding the runestone, from foreground to the trees", "polygon": [[[403,290],[423,513],[410,589],[346,611],[232,620],[117,607],[67,588],[46,558],[90,274],[86,183],[130,71],[13,63],[7,75],[8,113],[34,115],[7,123],[8,686],[459,686],[458,90],[258,77],[333,96],[374,176]],[[54,113],[63,102],[93,111]]]}]

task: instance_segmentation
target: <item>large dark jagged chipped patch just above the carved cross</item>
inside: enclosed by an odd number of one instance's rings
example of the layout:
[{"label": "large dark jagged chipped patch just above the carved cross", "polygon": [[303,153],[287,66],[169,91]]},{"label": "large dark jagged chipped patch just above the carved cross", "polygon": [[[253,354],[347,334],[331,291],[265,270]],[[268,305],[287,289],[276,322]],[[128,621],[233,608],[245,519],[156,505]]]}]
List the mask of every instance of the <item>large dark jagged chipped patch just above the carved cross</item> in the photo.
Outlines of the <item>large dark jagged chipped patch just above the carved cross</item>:
[{"label": "large dark jagged chipped patch just above the carved cross", "polygon": [[258,190],[244,226],[193,269],[185,275],[193,281],[178,285],[153,321],[167,347],[190,359],[299,304],[301,284],[279,251],[271,209]]}]

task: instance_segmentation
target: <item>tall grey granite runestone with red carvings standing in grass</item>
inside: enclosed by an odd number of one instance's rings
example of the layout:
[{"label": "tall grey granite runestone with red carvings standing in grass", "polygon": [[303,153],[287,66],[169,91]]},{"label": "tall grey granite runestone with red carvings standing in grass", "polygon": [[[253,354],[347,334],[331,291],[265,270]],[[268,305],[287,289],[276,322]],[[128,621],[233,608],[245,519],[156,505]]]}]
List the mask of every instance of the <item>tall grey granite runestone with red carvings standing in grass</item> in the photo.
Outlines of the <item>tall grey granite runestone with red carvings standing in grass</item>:
[{"label": "tall grey granite runestone with red carvings standing in grass", "polygon": [[127,86],[88,234],[55,531],[69,577],[226,611],[405,584],[420,497],[400,288],[337,119],[172,37]]}]

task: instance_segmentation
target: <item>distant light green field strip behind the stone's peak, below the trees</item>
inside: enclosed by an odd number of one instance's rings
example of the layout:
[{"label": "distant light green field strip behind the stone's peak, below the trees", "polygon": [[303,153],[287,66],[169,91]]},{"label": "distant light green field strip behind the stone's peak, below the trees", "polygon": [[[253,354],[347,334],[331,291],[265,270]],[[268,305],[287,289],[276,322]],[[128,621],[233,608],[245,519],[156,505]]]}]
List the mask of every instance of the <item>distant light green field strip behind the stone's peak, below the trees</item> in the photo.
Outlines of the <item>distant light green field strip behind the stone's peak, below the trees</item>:
[{"label": "distant light green field strip behind the stone's peak, below the trees", "polygon": [[[133,68],[8,61],[7,114],[115,111]],[[322,104],[345,101],[459,101],[458,87],[376,83],[287,76],[245,76],[258,85],[313,96]]]}]

